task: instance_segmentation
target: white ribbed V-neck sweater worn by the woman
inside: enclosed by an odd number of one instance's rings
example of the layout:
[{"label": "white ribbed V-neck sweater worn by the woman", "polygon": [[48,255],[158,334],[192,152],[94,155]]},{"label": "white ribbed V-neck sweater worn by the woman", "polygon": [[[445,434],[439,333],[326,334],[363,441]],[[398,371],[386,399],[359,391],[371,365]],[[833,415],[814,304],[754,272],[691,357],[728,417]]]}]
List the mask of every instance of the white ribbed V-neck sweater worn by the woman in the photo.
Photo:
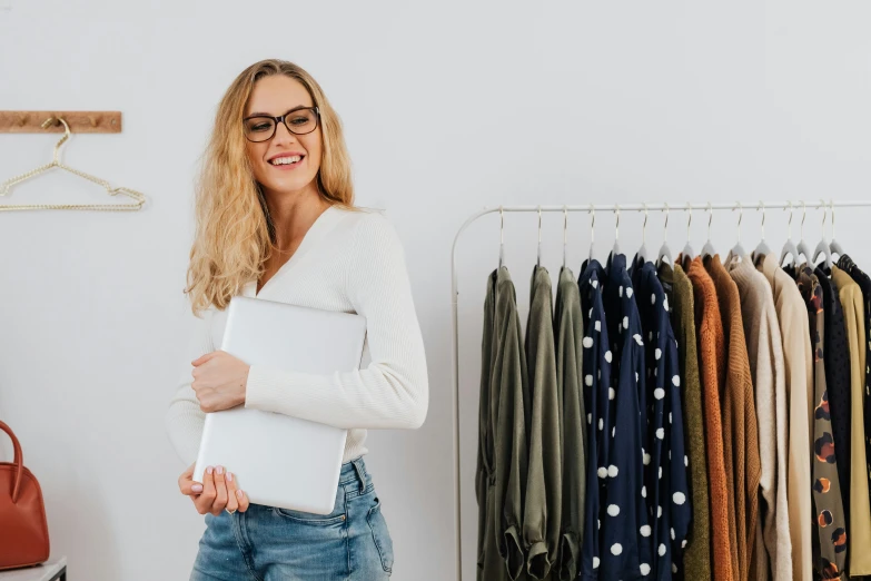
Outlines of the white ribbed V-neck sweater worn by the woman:
[{"label": "white ribbed V-neck sweater worn by the woman", "polygon": [[[245,406],[348,429],[343,462],[367,452],[367,429],[415,429],[426,416],[428,381],[405,253],[390,223],[374,211],[331,206],[289,260],[256,292],[241,295],[366,317],[359,371],[316,375],[251,365]],[[226,311],[209,308],[186,358],[166,415],[179,457],[197,459],[205,413],[194,390],[191,361],[220,345]],[[368,365],[367,365],[368,363]]]}]

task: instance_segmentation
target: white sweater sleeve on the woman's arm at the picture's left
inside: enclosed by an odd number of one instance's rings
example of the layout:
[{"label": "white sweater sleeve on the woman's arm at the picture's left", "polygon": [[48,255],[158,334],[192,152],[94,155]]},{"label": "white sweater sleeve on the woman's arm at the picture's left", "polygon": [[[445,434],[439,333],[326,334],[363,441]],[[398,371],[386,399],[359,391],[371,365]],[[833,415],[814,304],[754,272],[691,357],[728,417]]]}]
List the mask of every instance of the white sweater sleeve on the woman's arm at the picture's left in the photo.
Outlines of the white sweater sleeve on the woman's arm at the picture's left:
[{"label": "white sweater sleeve on the woman's arm at the picture's left", "polygon": [[206,422],[206,413],[200,410],[197,395],[190,387],[194,381],[191,375],[194,366],[190,362],[200,355],[215,351],[210,328],[211,311],[207,311],[202,318],[197,317],[196,319],[196,328],[188,341],[188,358],[185,362],[185,371],[179,377],[176,394],[165,416],[169,440],[185,465],[197,461],[202,425]]}]

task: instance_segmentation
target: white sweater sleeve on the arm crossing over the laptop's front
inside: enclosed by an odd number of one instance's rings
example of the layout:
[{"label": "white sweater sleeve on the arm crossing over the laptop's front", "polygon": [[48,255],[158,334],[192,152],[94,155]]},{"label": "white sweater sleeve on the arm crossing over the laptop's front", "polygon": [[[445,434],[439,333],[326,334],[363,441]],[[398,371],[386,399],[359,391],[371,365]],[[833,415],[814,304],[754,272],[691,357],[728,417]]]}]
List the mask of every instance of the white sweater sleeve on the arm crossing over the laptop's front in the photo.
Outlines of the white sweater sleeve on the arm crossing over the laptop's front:
[{"label": "white sweater sleeve on the arm crossing over the laptop's front", "polygon": [[424,342],[412,298],[405,253],[380,215],[352,233],[346,293],[366,317],[372,363],[329,375],[251,365],[245,406],[344,429],[416,429],[426,417]]}]

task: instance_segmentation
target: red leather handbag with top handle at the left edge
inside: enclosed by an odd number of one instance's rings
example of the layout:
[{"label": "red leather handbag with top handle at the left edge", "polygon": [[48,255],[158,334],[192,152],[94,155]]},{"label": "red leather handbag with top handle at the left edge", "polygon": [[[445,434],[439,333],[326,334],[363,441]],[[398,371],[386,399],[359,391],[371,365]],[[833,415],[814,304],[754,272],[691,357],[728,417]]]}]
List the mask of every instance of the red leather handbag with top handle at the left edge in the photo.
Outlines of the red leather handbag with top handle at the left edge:
[{"label": "red leather handbag with top handle at the left edge", "polygon": [[46,506],[39,482],[24,467],[21,444],[12,430],[0,422],[12,439],[12,462],[0,462],[0,571],[48,561],[49,539]]}]

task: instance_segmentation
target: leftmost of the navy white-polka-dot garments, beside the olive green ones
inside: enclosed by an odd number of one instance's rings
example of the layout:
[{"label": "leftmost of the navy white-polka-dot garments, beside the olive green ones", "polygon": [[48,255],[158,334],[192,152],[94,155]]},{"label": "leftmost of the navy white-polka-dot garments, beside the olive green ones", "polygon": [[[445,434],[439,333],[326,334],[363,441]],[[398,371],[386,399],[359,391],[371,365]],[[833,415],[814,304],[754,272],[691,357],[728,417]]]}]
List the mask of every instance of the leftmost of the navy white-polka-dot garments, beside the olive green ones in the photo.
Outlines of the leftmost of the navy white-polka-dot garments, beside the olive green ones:
[{"label": "leftmost of the navy white-polka-dot garments, beside the olive green ones", "polygon": [[[601,565],[600,522],[604,511],[605,484],[611,454],[611,440],[604,434],[611,431],[611,400],[608,387],[611,362],[607,319],[602,301],[605,272],[597,260],[585,263],[577,282],[581,293],[581,311],[586,334],[584,346],[584,405],[586,407],[587,450],[586,499],[584,503],[584,539],[582,543],[582,575],[585,580],[598,579]],[[604,381],[602,380],[604,377]]]}]

